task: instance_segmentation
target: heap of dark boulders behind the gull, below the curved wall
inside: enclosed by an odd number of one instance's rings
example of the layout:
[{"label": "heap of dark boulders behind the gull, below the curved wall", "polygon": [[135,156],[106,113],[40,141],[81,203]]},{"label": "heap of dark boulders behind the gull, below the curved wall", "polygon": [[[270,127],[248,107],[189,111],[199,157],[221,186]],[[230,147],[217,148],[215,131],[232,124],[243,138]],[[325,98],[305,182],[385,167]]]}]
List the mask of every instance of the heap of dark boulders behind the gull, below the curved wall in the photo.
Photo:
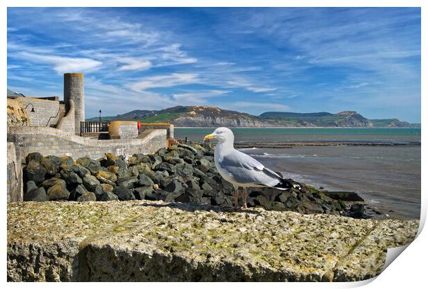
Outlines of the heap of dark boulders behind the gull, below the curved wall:
[{"label": "heap of dark boulders behind the gull, below the curved wall", "polygon": [[[115,156],[101,159],[41,156],[30,153],[23,166],[25,201],[128,201],[150,200],[233,205],[233,186],[224,181],[214,164],[213,148],[178,143],[153,155]],[[364,206],[352,206],[337,196],[327,196],[304,183],[289,179],[300,189],[249,190],[248,206],[266,210],[291,210],[367,217]],[[355,201],[355,200],[354,200]],[[361,201],[356,199],[356,201]]]}]

